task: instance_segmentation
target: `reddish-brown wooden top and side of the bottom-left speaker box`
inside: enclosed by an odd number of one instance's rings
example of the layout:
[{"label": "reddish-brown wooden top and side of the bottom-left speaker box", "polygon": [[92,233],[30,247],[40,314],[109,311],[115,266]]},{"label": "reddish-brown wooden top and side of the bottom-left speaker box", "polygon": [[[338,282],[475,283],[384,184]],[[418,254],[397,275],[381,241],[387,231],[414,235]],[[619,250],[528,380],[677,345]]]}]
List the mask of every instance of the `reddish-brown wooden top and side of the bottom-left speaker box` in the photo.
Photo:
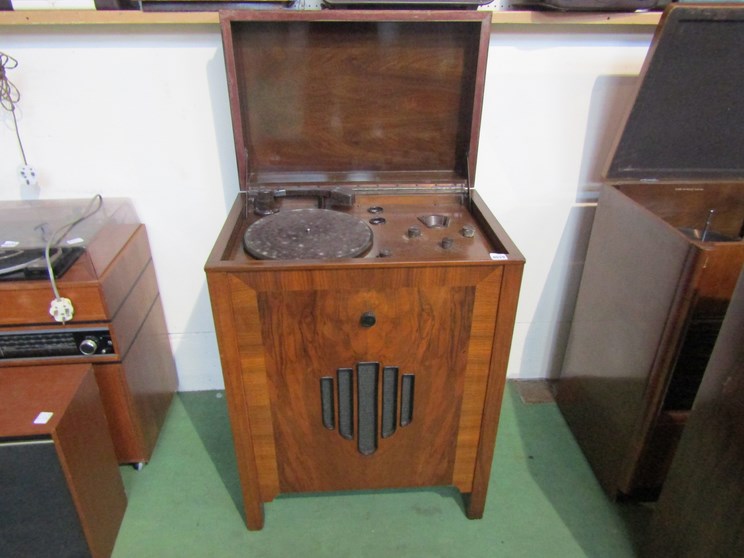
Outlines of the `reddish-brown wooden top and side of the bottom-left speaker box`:
[{"label": "reddish-brown wooden top and side of the bottom-left speaker box", "polygon": [[[35,424],[42,411],[53,413],[51,419]],[[40,437],[54,443],[91,556],[110,556],[126,496],[90,365],[0,368],[0,451],[6,440]],[[34,471],[32,464],[29,471]],[[44,504],[29,505],[41,509]],[[14,513],[6,510],[3,522],[11,523]],[[27,520],[34,521],[33,517]],[[40,522],[33,527],[46,531],[55,525]],[[25,531],[29,532],[28,525]],[[13,542],[14,548],[23,548],[24,541]]]}]

